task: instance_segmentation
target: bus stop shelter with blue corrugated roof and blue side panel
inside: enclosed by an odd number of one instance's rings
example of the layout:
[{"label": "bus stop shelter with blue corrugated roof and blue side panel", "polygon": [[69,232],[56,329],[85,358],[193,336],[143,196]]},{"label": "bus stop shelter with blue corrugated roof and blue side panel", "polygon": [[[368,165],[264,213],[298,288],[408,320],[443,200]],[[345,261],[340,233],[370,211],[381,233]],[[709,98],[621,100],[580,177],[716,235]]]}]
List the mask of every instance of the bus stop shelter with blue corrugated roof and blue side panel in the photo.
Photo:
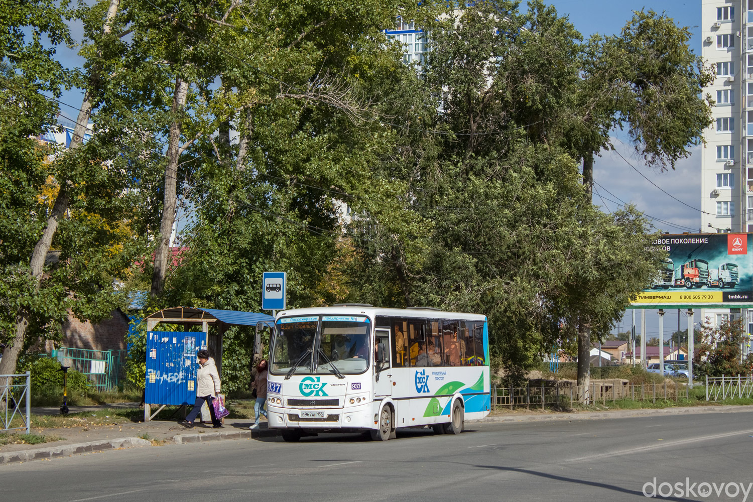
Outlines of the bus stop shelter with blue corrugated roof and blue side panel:
[{"label": "bus stop shelter with blue corrugated roof and blue side panel", "polygon": [[[198,367],[196,351],[209,349],[222,376],[222,336],[231,326],[256,328],[254,353],[261,354],[261,330],[273,327],[274,318],[268,314],[236,310],[201,309],[198,307],[171,307],[154,312],[144,318],[147,323],[146,382],[144,420],[154,418],[167,405],[192,404],[196,390],[191,380]],[[200,326],[201,331],[157,331],[157,325],[177,324],[184,327]],[[210,332],[209,327],[215,329]],[[151,406],[159,406],[151,412]]]}]

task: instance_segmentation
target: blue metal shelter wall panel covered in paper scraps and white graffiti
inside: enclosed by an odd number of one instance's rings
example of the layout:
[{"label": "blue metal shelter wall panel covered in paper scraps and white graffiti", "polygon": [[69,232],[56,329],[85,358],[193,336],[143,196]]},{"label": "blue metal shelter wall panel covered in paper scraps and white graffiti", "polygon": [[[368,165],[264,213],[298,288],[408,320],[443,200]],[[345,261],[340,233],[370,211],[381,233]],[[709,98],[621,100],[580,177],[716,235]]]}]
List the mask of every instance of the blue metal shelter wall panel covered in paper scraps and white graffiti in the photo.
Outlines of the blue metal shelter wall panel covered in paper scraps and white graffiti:
[{"label": "blue metal shelter wall panel covered in paper scraps and white graffiti", "polygon": [[197,351],[206,348],[203,331],[149,331],[146,339],[146,393],[149,404],[196,402]]}]

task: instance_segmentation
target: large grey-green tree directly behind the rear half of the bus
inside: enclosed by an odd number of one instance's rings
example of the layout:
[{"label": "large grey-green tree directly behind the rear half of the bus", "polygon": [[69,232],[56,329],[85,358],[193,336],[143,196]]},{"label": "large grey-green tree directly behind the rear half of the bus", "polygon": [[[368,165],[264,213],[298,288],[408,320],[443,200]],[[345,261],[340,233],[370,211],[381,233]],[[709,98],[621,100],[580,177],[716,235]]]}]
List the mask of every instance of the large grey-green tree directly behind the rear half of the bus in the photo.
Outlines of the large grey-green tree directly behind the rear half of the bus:
[{"label": "large grey-green tree directly behind the rear half of the bus", "polygon": [[[661,254],[633,208],[603,214],[581,184],[569,142],[580,39],[541,2],[526,13],[477,3],[432,26],[416,88],[425,94],[409,96],[407,114],[428,132],[401,130],[412,149],[395,171],[423,218],[413,239],[425,251],[408,265],[389,232],[365,221],[370,252],[357,254],[360,291],[377,303],[486,313],[508,375],[575,339],[587,371],[590,337],[609,333]],[[441,96],[436,111],[430,96]]]}]

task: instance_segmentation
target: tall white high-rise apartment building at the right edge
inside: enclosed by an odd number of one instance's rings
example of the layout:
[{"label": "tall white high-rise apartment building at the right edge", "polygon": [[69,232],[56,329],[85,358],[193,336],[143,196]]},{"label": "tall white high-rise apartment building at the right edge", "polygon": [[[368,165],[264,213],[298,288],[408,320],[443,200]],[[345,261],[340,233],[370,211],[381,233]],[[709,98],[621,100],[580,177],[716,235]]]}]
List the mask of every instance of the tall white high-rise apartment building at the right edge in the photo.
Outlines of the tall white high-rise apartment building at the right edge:
[{"label": "tall white high-rise apartment building at the right edge", "polygon": [[[701,56],[716,70],[706,91],[714,123],[701,150],[703,232],[753,232],[753,0],[701,0]],[[746,309],[701,309],[721,324]],[[750,328],[749,328],[750,329]]]}]

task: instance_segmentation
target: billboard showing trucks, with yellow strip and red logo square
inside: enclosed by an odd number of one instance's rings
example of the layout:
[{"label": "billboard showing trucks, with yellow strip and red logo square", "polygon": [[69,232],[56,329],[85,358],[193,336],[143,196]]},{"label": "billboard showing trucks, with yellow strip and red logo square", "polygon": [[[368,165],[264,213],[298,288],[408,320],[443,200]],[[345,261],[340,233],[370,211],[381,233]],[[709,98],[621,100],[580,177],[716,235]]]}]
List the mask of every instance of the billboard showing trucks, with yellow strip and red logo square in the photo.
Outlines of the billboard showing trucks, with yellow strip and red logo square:
[{"label": "billboard showing trucks, with yellow strip and red logo square", "polygon": [[753,234],[664,235],[668,256],[633,308],[753,308]]}]

